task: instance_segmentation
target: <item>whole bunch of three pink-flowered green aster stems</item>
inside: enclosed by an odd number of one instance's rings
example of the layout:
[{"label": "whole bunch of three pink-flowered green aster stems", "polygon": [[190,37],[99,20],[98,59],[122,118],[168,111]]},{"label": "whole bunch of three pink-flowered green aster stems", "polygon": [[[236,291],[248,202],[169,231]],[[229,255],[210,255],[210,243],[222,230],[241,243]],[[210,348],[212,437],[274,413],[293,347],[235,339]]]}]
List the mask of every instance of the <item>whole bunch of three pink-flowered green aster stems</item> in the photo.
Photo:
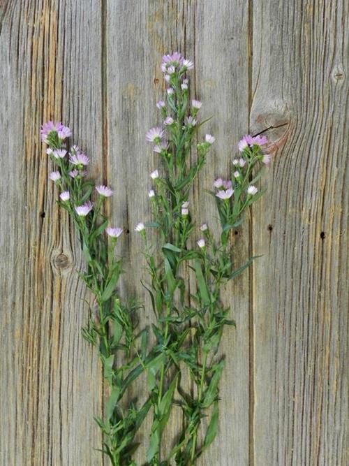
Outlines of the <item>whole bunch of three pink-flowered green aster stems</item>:
[{"label": "whole bunch of three pink-flowered green aster stems", "polygon": [[[103,431],[102,451],[113,466],[136,464],[135,435],[150,409],[153,423],[147,465],[194,465],[214,441],[218,384],[224,367],[224,358],[217,356],[217,350],[223,327],[235,325],[228,318],[229,307],[221,300],[221,289],[255,259],[248,259],[244,265],[235,263],[230,232],[242,223],[244,212],[261,195],[254,184],[271,160],[262,151],[267,143],[264,136],[244,136],[238,145],[239,157],[232,160],[229,179],[218,178],[213,183],[211,194],[221,232],[217,234],[216,228],[211,231],[202,224],[202,238],[194,242],[194,248],[190,246],[195,234],[189,208],[191,189],[215,141],[214,136],[206,134],[194,150],[198,129],[205,121],[199,119],[202,103],[188,96],[187,73],[192,68],[193,63],[179,52],[163,57],[161,69],[168,89],[166,101],[156,103],[163,122],[146,135],[161,159],[161,167],[151,172],[153,219],[135,227],[144,240],[149,270],[149,282],[143,286],[155,314],[152,347],[147,329],[139,330],[135,325],[138,319],[134,314],[141,306],[135,300],[121,299],[117,291],[123,270],[116,247],[122,229],[107,227],[108,219],[103,214],[104,201],[112,196],[112,190],[85,180],[89,159],[77,146],[66,145],[70,129],[53,122],[42,128],[42,139],[49,146],[47,154],[59,169],[50,175],[61,190],[58,203],[73,219],[87,262],[87,271],[80,272],[80,277],[95,299],[82,333],[98,347],[104,377],[110,385],[105,418],[96,421]],[[195,159],[192,163],[190,154]],[[188,271],[195,279],[194,293],[188,289]],[[138,407],[137,402],[125,402],[123,396],[143,372],[147,374],[149,396]],[[184,372],[191,375],[194,388],[183,386]],[[173,406],[181,409],[184,424],[169,450],[163,448],[162,440]],[[202,418],[208,419],[205,432]]]}]

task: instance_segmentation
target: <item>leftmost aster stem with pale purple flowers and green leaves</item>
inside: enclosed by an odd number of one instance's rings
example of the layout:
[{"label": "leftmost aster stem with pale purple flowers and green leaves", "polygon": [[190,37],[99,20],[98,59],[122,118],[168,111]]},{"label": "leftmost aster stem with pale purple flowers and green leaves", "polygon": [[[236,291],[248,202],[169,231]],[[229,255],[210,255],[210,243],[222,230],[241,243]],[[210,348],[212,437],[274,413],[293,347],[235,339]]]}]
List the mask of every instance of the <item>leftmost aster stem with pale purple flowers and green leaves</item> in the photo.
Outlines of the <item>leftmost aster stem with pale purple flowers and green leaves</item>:
[{"label": "leftmost aster stem with pale purple flowers and green leaves", "polygon": [[140,306],[133,300],[121,300],[117,291],[123,272],[117,247],[123,229],[107,226],[103,213],[103,205],[113,191],[86,180],[89,157],[76,145],[68,146],[70,136],[70,129],[60,122],[48,122],[41,128],[41,139],[56,168],[50,180],[60,191],[57,203],[72,219],[86,261],[86,270],[78,273],[94,296],[82,335],[98,349],[103,375],[110,386],[105,418],[96,418],[103,432],[101,451],[113,466],[135,465],[135,434],[151,403],[147,400],[138,409],[135,402],[127,404],[122,398],[143,371],[139,361],[145,351],[145,334],[137,332],[137,319],[133,319]]}]

